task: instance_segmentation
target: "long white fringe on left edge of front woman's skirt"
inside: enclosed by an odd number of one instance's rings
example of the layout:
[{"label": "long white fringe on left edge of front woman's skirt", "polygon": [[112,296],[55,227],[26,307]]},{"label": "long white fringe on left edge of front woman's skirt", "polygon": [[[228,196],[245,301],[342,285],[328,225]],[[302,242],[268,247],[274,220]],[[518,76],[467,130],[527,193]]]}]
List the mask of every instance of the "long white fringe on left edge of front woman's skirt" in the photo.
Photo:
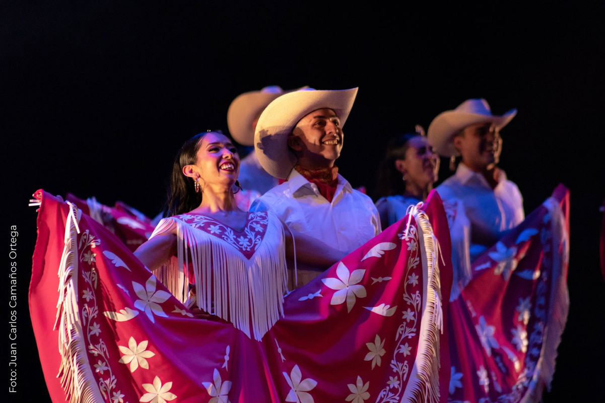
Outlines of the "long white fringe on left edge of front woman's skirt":
[{"label": "long white fringe on left edge of front woman's skirt", "polygon": [[59,265],[59,301],[54,329],[59,330],[61,365],[57,378],[70,403],[95,403],[105,401],[96,384],[88,361],[87,346],[80,323],[77,303],[78,250],[77,223],[81,211],[67,201],[70,212],[65,222],[65,247]]}]

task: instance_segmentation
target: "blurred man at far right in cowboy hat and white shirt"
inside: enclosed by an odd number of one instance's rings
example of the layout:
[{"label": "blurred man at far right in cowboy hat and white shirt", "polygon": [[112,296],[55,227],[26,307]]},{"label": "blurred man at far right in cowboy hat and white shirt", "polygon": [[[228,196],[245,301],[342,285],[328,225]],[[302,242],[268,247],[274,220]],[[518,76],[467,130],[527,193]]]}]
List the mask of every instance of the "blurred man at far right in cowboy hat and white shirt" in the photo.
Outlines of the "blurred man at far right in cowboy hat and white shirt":
[{"label": "blurred man at far right in cowboy hat and white shirt", "polygon": [[494,115],[485,99],[468,99],[428,126],[428,142],[440,156],[460,157],[456,173],[437,192],[444,200],[462,202],[471,224],[471,260],[525,218],[521,192],[498,166],[500,130],[516,114],[512,109]]}]

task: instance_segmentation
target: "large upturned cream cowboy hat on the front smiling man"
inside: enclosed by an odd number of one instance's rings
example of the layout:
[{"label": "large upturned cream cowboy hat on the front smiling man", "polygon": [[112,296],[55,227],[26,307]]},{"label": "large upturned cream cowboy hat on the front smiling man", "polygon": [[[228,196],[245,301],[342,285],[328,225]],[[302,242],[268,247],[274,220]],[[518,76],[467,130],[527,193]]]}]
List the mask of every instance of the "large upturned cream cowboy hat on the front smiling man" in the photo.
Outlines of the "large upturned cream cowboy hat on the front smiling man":
[{"label": "large upturned cream cowboy hat on the front smiling man", "polygon": [[351,111],[358,88],[350,90],[314,90],[305,88],[284,94],[269,103],[258,119],[254,149],[264,170],[278,179],[286,179],[296,165],[296,156],[287,139],[296,123],[322,108],[336,113],[341,127]]}]

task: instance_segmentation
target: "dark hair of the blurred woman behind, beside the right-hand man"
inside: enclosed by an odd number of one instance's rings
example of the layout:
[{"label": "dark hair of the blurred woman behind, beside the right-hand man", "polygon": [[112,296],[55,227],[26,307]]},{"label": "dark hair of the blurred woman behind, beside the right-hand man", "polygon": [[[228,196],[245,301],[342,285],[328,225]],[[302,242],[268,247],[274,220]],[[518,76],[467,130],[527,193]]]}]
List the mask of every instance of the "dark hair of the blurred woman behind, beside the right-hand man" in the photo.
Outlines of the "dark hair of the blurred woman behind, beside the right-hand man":
[{"label": "dark hair of the blurred woman behind, beside the right-hand man", "polygon": [[405,160],[405,152],[410,148],[408,142],[417,136],[420,136],[420,133],[399,134],[388,142],[384,158],[378,168],[374,201],[381,197],[402,194],[405,191],[405,182],[401,178],[401,172],[395,168],[395,160]]}]

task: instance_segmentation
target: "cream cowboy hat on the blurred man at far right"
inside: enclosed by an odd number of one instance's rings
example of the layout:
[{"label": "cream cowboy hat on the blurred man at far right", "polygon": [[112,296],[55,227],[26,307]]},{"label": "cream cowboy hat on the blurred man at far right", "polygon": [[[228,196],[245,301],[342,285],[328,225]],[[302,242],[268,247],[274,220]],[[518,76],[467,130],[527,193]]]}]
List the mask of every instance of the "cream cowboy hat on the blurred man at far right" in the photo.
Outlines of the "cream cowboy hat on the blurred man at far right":
[{"label": "cream cowboy hat on the blurred man at far right", "polygon": [[459,156],[454,147],[453,136],[466,126],[491,122],[500,130],[517,114],[511,109],[501,116],[493,115],[488,102],[481,99],[467,99],[456,109],[437,115],[428,126],[427,140],[433,149],[442,157]]}]

